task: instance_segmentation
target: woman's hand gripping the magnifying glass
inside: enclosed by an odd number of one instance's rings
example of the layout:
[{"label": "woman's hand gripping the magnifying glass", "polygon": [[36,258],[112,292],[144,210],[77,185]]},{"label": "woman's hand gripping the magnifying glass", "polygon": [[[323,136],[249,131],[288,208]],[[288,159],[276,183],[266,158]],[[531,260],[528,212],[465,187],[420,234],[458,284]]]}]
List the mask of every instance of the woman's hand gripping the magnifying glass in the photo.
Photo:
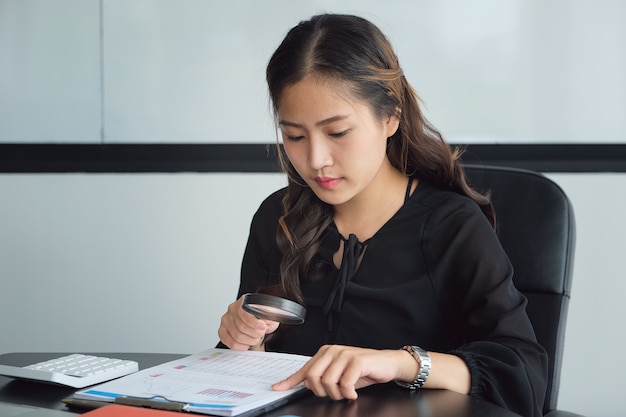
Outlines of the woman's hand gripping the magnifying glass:
[{"label": "woman's hand gripping the magnifying glass", "polygon": [[245,311],[241,296],[228,306],[222,316],[217,334],[226,346],[233,350],[264,350],[265,335],[278,329],[277,321],[262,320]]}]

